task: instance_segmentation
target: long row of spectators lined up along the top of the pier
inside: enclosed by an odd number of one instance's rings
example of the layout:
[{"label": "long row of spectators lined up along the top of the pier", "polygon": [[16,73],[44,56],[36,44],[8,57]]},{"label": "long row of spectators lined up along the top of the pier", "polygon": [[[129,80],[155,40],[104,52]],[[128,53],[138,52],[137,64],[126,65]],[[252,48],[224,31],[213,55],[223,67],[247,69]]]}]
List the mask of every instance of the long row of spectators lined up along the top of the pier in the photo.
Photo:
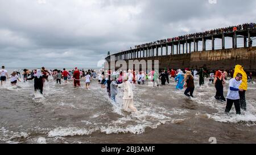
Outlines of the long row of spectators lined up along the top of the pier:
[{"label": "long row of spectators lined up along the top of the pier", "polygon": [[154,42],[148,42],[146,44],[135,45],[135,49],[147,48],[152,45],[159,45],[159,44],[164,44],[167,42],[183,41],[183,40],[187,40],[187,39],[191,39],[191,38],[199,38],[199,37],[203,37],[203,36],[211,36],[211,35],[218,35],[218,34],[222,34],[222,33],[241,31],[241,30],[246,30],[249,28],[256,29],[256,24],[255,23],[245,23],[245,24],[234,25],[234,26],[225,27],[225,28],[212,29],[210,31],[205,31],[205,32],[192,33],[192,34],[183,35],[183,36],[179,36],[179,37],[167,38],[167,39],[158,40],[158,41],[154,41]]}]

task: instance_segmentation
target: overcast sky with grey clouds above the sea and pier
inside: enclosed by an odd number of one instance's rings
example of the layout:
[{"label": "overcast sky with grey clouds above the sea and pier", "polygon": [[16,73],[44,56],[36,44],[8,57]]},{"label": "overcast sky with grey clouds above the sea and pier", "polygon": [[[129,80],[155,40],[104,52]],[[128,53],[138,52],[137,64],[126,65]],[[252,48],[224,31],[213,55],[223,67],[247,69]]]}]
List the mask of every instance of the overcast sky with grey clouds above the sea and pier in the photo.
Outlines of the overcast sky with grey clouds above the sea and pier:
[{"label": "overcast sky with grey clouds above the sea and pier", "polygon": [[97,67],[108,51],[255,22],[255,7],[254,0],[0,0],[0,65]]}]

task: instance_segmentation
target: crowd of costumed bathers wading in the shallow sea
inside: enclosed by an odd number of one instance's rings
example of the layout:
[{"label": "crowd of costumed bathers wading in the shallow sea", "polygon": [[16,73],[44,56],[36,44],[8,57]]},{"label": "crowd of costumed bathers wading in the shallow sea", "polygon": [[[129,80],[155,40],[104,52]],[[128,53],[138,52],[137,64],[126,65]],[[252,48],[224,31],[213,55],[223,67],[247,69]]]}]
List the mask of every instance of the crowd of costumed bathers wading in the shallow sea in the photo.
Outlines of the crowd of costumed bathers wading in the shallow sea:
[{"label": "crowd of costumed bathers wading in the shallow sea", "polygon": [[[1,75],[1,85],[6,79],[10,79],[11,85],[16,85],[17,81],[21,81],[18,76],[19,71],[13,71],[9,77],[5,66],[2,66],[0,70]],[[246,110],[246,99],[245,93],[247,91],[247,83],[253,81],[253,73],[246,72],[243,70],[243,66],[237,65],[234,70],[217,70],[208,71],[206,68],[201,67],[200,70],[190,70],[185,68],[184,70],[178,69],[164,69],[160,70],[146,70],[146,71],[134,71],[134,70],[104,70],[101,69],[98,72],[95,70],[84,71],[79,70],[75,67],[72,71],[67,71],[63,68],[60,70],[46,70],[42,67],[37,70],[29,71],[27,69],[23,70],[23,81],[34,80],[34,90],[39,91],[43,94],[43,85],[45,81],[49,80],[49,76],[52,76],[53,80],[56,80],[57,84],[61,84],[61,79],[67,84],[67,80],[73,80],[73,85],[75,87],[80,87],[80,81],[85,79],[85,88],[89,89],[90,82],[92,79],[98,79],[98,84],[101,88],[106,88],[109,98],[114,104],[117,104],[116,96],[118,94],[118,88],[123,87],[123,109],[125,111],[136,112],[137,109],[134,107],[133,102],[133,85],[144,85],[146,81],[151,82],[153,87],[159,87],[159,85],[166,85],[170,83],[170,79],[176,81],[177,90],[185,90],[184,94],[188,97],[194,97],[193,92],[195,91],[195,77],[199,79],[199,85],[205,84],[205,76],[208,78],[209,74],[209,84],[214,84],[216,88],[216,95],[214,96],[216,100],[225,102],[226,109],[225,112],[229,113],[232,105],[234,104],[236,108],[236,113],[241,114],[240,109]],[[228,76],[232,79],[229,80],[229,89],[227,100],[224,97],[224,86]],[[197,79],[196,78],[196,79]],[[158,81],[161,81],[159,84]]]}]

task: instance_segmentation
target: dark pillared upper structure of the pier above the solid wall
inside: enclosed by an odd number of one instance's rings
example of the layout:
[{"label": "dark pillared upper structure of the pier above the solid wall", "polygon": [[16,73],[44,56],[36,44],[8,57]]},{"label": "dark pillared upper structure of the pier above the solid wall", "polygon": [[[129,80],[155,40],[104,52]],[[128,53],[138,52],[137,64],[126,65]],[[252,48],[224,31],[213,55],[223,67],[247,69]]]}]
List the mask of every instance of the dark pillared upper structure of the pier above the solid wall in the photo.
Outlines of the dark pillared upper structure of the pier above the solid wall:
[{"label": "dark pillared upper structure of the pier above the solid wall", "polygon": [[[252,37],[256,37],[256,27],[247,27],[246,29],[239,29],[235,31],[222,32],[222,33],[213,33],[213,34],[205,34],[200,35],[199,37],[186,37],[184,39],[174,40],[174,41],[166,41],[160,42],[158,44],[151,44],[147,46],[139,46],[135,49],[130,49],[126,51],[122,51],[119,53],[112,54],[114,56],[115,61],[118,60],[129,60],[129,59],[137,59],[137,58],[150,58],[150,57],[159,57],[164,55],[174,55],[174,54],[188,54],[196,51],[205,51],[207,50],[206,41],[211,40],[212,48],[211,50],[215,50],[215,39],[221,39],[222,49],[226,49],[225,46],[225,38],[232,38],[232,48],[237,48],[237,38],[243,38],[243,48],[250,48],[253,46],[251,39]],[[201,42],[202,49],[199,49],[199,42]],[[191,48],[193,45],[193,51]],[[182,50],[181,50],[182,46]],[[164,54],[165,48],[165,54]],[[168,50],[170,48],[170,50]],[[176,53],[174,52],[176,48]],[[160,51],[159,51],[160,49]],[[106,57],[106,61],[110,62],[110,57],[112,55],[108,55]]]}]

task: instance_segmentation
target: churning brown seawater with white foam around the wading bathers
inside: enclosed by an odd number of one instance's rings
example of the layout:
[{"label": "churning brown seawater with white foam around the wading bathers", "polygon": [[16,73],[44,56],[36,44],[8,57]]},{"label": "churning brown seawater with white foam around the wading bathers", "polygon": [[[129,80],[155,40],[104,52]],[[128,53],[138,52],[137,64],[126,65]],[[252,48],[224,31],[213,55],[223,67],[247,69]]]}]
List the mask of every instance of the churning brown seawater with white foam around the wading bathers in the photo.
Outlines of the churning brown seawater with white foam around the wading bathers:
[{"label": "churning brown seawater with white foam around the wading bathers", "polygon": [[[18,87],[11,86],[7,81],[0,87],[3,98],[0,105],[3,116],[0,118],[0,141],[137,143],[139,140],[143,143],[172,143],[175,137],[180,142],[188,140],[183,136],[191,136],[190,132],[192,135],[203,132],[203,135],[209,135],[212,133],[207,132],[212,130],[209,126],[220,126],[220,133],[225,128],[238,132],[229,127],[230,123],[239,126],[239,130],[256,131],[255,83],[250,83],[246,92],[248,110],[236,115],[232,109],[230,115],[225,115],[226,104],[215,100],[214,85],[205,80],[205,85],[199,87],[195,80],[195,98],[184,96],[184,90],[177,91],[173,79],[167,87],[153,88],[151,82],[133,85],[137,113],[122,110],[122,89],[119,89],[117,102],[114,103],[108,97],[106,88],[102,89],[96,80],[92,81],[90,90],[86,90],[84,80],[81,81],[81,88],[74,88],[71,80],[67,84],[61,81],[63,84],[59,85],[49,79],[44,83],[43,94],[34,92],[34,81],[17,83]],[[224,88],[225,93],[227,87]],[[196,135],[191,141],[200,142],[203,135]],[[131,138],[125,141],[126,136]]]}]

